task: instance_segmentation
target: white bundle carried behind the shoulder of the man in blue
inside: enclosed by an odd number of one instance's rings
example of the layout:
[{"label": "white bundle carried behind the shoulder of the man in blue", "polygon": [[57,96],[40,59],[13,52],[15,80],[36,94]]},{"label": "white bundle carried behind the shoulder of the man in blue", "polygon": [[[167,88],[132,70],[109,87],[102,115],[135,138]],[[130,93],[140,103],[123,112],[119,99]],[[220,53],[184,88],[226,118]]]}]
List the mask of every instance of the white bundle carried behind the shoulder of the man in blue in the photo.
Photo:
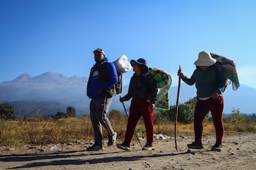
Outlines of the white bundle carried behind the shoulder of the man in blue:
[{"label": "white bundle carried behind the shoulder of the man in blue", "polygon": [[126,73],[130,71],[130,69],[132,68],[132,65],[130,65],[130,62],[128,62],[126,55],[122,55],[113,63],[114,63],[114,66],[116,67],[117,73],[119,73],[120,75],[122,73]]}]

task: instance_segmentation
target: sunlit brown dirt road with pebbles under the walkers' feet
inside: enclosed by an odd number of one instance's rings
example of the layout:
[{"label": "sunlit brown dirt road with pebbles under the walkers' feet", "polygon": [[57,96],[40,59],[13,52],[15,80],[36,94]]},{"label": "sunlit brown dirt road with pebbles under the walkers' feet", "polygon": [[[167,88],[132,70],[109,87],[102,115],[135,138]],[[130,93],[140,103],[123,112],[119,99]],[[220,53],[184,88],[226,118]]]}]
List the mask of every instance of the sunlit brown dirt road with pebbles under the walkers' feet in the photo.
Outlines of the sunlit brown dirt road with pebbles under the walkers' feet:
[{"label": "sunlit brown dirt road with pebbles under the walkers' feet", "polygon": [[[116,145],[102,151],[87,152],[89,142],[49,146],[0,147],[0,169],[256,169],[255,134],[224,136],[221,152],[210,150],[215,136],[203,137],[203,149],[190,151],[194,137],[155,139],[155,150],[145,151],[132,142],[132,151]],[[117,138],[117,142],[122,139]],[[145,141],[141,141],[142,145]]]}]

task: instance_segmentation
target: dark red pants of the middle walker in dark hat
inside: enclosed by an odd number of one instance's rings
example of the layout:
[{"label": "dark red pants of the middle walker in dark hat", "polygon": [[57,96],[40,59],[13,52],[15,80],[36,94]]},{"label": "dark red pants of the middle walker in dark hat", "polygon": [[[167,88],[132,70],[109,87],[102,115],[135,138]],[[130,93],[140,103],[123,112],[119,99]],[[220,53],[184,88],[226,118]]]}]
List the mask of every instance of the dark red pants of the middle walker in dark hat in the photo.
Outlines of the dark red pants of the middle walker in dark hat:
[{"label": "dark red pants of the middle walker in dark hat", "polygon": [[126,136],[124,137],[124,142],[126,142],[127,144],[130,144],[132,136],[134,135],[136,124],[138,123],[141,116],[143,117],[146,128],[147,144],[153,143],[154,109],[150,109],[149,104],[150,103],[146,99],[132,100],[132,102],[130,103],[130,114],[126,127]]}]

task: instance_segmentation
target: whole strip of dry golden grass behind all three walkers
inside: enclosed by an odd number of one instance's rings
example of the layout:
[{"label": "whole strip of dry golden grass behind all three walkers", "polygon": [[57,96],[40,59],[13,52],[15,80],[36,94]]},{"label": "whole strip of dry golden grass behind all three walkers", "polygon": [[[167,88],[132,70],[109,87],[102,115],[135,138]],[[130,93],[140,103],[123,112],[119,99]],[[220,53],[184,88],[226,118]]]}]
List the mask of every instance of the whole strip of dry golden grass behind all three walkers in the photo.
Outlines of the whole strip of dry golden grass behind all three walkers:
[{"label": "whole strip of dry golden grass behind all three walkers", "polygon": [[[111,119],[114,131],[119,139],[124,139],[127,118]],[[256,123],[249,122],[234,126],[226,123],[225,133],[256,132]],[[174,123],[155,124],[155,134],[174,136]],[[145,136],[145,126],[140,121],[136,131]],[[194,136],[193,124],[177,124],[179,136]],[[203,124],[203,136],[215,134],[213,123]],[[108,137],[103,128],[103,136]],[[46,145],[76,142],[76,140],[93,140],[93,129],[90,118],[69,118],[56,121],[3,121],[0,120],[0,146]],[[136,140],[136,139],[135,139]]]}]

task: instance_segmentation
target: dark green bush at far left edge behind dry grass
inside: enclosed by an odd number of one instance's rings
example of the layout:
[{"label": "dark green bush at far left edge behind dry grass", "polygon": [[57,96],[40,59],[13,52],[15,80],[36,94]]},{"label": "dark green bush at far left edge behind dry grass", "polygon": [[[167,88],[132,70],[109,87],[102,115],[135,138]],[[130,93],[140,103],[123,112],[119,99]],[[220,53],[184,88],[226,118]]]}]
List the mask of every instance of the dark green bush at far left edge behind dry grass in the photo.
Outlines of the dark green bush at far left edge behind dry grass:
[{"label": "dark green bush at far left edge behind dry grass", "polygon": [[0,103],[0,118],[1,119],[15,119],[15,109],[7,102]]}]

